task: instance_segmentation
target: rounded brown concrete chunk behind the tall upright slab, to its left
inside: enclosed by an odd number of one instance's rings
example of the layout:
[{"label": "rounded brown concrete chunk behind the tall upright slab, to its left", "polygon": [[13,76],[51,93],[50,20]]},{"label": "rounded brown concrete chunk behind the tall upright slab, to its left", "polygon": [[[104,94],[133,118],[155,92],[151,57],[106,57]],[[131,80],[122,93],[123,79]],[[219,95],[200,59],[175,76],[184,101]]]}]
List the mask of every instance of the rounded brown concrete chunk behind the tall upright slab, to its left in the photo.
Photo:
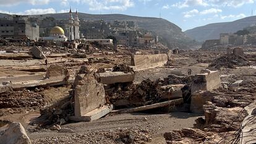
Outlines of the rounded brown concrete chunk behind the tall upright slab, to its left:
[{"label": "rounded brown concrete chunk behind the tall upright slab, to its left", "polygon": [[46,70],[45,78],[59,76],[66,77],[66,80],[69,78],[69,72],[66,67],[59,66],[58,64],[52,64]]}]

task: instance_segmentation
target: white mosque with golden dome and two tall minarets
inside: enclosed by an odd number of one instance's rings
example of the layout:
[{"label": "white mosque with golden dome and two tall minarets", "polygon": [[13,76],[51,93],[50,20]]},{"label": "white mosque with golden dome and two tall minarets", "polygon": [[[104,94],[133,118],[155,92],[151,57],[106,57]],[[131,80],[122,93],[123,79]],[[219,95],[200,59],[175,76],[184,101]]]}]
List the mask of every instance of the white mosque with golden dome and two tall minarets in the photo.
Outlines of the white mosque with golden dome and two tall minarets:
[{"label": "white mosque with golden dome and two tall minarets", "polygon": [[49,41],[74,41],[80,39],[79,34],[79,17],[77,11],[75,12],[75,19],[73,19],[72,11],[70,9],[69,11],[69,32],[68,37],[65,36],[64,30],[59,27],[53,27],[51,28],[51,31],[49,33],[48,37],[41,37],[41,40],[49,40]]}]

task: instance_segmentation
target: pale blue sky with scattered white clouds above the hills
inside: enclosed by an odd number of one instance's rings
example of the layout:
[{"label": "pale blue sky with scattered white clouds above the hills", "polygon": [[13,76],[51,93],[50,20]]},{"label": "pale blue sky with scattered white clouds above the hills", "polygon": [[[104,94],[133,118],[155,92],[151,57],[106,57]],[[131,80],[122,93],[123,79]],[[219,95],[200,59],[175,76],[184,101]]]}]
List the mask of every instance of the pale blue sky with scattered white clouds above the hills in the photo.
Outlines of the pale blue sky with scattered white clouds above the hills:
[{"label": "pale blue sky with scattered white clouds above the hills", "polygon": [[48,14],[74,11],[160,17],[182,30],[256,14],[256,0],[0,0],[0,12]]}]

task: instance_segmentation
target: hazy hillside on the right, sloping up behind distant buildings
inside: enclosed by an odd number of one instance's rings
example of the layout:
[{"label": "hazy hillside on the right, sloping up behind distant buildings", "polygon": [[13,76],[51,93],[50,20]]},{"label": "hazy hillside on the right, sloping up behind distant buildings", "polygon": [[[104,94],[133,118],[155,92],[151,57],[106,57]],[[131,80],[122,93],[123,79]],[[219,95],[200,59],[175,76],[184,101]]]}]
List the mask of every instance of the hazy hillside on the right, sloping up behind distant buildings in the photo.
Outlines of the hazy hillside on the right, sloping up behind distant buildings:
[{"label": "hazy hillside on the right, sloping up behind distant buildings", "polygon": [[245,17],[233,22],[211,23],[202,27],[187,30],[185,33],[197,41],[213,40],[220,38],[220,33],[235,33],[245,27],[255,25],[256,16]]}]

